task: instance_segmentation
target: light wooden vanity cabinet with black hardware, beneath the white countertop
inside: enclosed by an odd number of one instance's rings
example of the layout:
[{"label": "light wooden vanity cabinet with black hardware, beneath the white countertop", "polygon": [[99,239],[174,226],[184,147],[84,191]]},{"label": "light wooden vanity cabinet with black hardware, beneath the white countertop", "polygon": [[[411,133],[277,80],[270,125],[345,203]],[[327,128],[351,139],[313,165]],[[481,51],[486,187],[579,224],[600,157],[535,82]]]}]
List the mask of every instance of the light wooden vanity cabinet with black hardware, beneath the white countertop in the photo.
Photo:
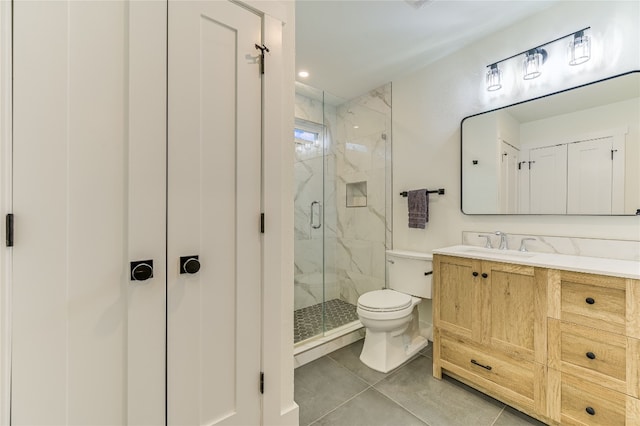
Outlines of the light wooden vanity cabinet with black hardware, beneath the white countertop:
[{"label": "light wooden vanity cabinet with black hardware, beneath the white countertop", "polygon": [[640,425],[640,280],[434,255],[433,374],[549,424]]}]

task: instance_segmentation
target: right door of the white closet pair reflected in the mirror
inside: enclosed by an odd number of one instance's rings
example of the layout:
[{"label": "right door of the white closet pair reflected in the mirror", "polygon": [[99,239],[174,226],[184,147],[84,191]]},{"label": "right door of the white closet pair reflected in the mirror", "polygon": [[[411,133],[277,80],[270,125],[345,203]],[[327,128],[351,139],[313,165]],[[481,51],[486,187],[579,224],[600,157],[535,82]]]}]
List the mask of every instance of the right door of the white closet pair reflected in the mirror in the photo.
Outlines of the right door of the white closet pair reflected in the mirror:
[{"label": "right door of the white closet pair reflected in the mirror", "polygon": [[612,137],[569,144],[567,213],[612,213],[612,147]]}]

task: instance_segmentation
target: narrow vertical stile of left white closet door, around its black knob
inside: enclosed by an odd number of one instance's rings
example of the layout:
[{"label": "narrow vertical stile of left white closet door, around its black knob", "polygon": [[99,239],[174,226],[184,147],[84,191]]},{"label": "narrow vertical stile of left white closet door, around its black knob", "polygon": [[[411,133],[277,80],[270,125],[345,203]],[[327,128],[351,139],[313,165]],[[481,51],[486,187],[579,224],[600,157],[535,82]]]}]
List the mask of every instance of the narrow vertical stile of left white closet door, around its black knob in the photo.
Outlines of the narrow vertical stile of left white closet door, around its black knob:
[{"label": "narrow vertical stile of left white closet door, around its black knob", "polygon": [[[128,3],[128,256],[153,278],[127,283],[127,423],[165,423],[167,3]],[[127,271],[128,273],[128,271]]]}]

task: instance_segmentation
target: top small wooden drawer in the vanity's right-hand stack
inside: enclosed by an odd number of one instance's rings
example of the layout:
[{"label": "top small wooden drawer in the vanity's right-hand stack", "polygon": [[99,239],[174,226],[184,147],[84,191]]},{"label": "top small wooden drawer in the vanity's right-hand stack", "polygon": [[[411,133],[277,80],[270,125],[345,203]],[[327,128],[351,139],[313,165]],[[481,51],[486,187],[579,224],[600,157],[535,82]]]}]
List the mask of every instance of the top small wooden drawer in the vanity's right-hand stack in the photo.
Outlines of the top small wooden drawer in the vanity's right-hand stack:
[{"label": "top small wooden drawer in the vanity's right-hand stack", "polygon": [[622,278],[562,272],[561,319],[625,334],[625,288]]}]

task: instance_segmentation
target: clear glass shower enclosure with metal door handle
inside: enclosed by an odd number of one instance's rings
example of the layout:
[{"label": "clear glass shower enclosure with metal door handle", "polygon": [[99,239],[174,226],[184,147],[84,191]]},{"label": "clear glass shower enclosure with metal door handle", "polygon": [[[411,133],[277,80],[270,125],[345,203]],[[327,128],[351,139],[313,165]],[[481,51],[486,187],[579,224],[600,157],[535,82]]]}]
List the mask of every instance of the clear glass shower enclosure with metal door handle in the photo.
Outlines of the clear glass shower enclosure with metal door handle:
[{"label": "clear glass shower enclosure with metal door handle", "polygon": [[[296,83],[294,342],[359,326],[391,241],[391,85],[344,100]],[[389,214],[387,214],[389,212]]]}]

